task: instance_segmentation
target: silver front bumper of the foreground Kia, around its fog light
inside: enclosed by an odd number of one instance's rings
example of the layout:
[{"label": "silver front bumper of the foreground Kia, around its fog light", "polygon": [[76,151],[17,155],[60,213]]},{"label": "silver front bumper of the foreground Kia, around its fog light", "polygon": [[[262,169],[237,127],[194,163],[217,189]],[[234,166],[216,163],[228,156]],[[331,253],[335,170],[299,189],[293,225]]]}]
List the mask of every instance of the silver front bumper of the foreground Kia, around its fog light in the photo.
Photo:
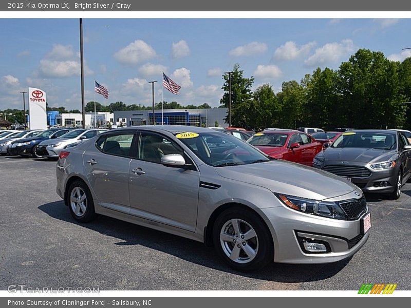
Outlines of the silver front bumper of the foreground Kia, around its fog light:
[{"label": "silver front bumper of the foreground Kia, around its fog light", "polygon": [[[262,209],[274,228],[274,262],[317,264],[340,261],[353,256],[365,244],[369,230],[362,234],[362,219],[329,219],[303,214],[293,209],[272,207]],[[326,243],[326,253],[304,251],[301,241]]]}]

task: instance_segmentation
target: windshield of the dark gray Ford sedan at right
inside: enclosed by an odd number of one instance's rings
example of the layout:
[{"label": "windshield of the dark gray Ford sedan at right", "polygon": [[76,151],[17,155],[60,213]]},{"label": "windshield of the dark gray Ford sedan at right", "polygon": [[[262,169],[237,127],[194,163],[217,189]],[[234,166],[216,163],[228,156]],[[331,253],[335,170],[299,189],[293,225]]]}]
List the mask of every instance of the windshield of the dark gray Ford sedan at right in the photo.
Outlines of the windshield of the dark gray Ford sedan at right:
[{"label": "windshield of the dark gray Ford sedan at right", "polygon": [[334,148],[375,148],[390,150],[397,146],[395,134],[382,132],[345,132],[331,147]]}]

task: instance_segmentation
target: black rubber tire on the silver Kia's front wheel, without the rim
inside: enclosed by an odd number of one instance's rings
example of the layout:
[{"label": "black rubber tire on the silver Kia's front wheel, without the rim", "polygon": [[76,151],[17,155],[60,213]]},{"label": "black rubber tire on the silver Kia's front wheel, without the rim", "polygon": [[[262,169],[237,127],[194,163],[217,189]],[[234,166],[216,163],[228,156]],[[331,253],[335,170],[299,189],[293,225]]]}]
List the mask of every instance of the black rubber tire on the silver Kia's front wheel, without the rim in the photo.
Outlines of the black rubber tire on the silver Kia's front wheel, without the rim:
[{"label": "black rubber tire on the silver Kia's front wheel, without the rim", "polygon": [[[240,220],[240,226],[242,225],[243,229],[240,231],[242,232],[243,230],[247,231],[247,224],[254,229],[256,238],[251,239],[250,242],[247,241],[245,245],[247,246],[253,246],[255,247],[255,257],[251,261],[247,260],[242,260],[243,262],[246,263],[239,263],[240,261],[233,261],[232,259],[229,258],[228,250],[226,244],[222,244],[220,240],[220,234],[223,228],[227,226],[227,224],[230,223],[230,220],[237,219]],[[232,228],[232,227],[230,227]],[[229,232],[229,229],[228,232]],[[231,230],[234,230],[233,228]],[[240,232],[240,235],[242,234]],[[234,237],[233,237],[234,238]],[[237,245],[239,247],[239,257],[241,255],[243,256],[244,259],[248,258],[248,254],[246,254],[245,250],[242,248],[241,244],[244,244],[244,242],[241,242],[243,240],[240,239],[240,236],[235,238],[237,239],[236,244],[233,244],[231,242],[226,242],[227,245],[232,245],[233,247],[231,248],[228,246],[228,249],[232,249],[232,252],[234,252],[234,246]],[[231,267],[237,269],[238,271],[254,271],[256,269],[262,268],[266,266],[268,263],[274,261],[274,244],[273,240],[271,237],[271,233],[269,232],[269,229],[264,222],[264,220],[258,216],[253,210],[247,209],[244,207],[231,207],[225,211],[223,211],[216,219],[214,223],[214,228],[213,228],[213,242],[214,242],[214,247],[217,251],[217,254]],[[256,245],[257,242],[257,245]],[[239,246],[238,246],[239,245]],[[250,258],[248,258],[250,259]]]}]

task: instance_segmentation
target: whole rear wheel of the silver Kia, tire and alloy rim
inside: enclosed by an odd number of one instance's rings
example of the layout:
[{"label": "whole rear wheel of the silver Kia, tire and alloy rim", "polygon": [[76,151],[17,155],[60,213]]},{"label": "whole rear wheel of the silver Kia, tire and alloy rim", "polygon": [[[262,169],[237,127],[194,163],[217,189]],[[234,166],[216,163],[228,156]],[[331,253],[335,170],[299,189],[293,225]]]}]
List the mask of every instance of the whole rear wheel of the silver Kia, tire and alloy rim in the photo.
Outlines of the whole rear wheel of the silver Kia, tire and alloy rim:
[{"label": "whole rear wheel of the silver Kia, tire and alloy rim", "polygon": [[70,214],[74,219],[80,222],[89,222],[96,218],[90,190],[83,181],[77,180],[71,183],[67,198]]}]

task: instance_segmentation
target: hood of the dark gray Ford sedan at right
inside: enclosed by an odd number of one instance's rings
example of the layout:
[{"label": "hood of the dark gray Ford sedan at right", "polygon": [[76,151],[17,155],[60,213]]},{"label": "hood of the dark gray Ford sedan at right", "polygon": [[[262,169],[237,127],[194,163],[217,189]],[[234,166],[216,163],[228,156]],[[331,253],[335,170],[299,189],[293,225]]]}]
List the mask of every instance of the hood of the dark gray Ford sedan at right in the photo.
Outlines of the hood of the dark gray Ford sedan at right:
[{"label": "hood of the dark gray Ford sedan at right", "polygon": [[327,148],[323,155],[325,161],[356,161],[363,163],[385,162],[395,156],[396,150],[372,148]]}]

